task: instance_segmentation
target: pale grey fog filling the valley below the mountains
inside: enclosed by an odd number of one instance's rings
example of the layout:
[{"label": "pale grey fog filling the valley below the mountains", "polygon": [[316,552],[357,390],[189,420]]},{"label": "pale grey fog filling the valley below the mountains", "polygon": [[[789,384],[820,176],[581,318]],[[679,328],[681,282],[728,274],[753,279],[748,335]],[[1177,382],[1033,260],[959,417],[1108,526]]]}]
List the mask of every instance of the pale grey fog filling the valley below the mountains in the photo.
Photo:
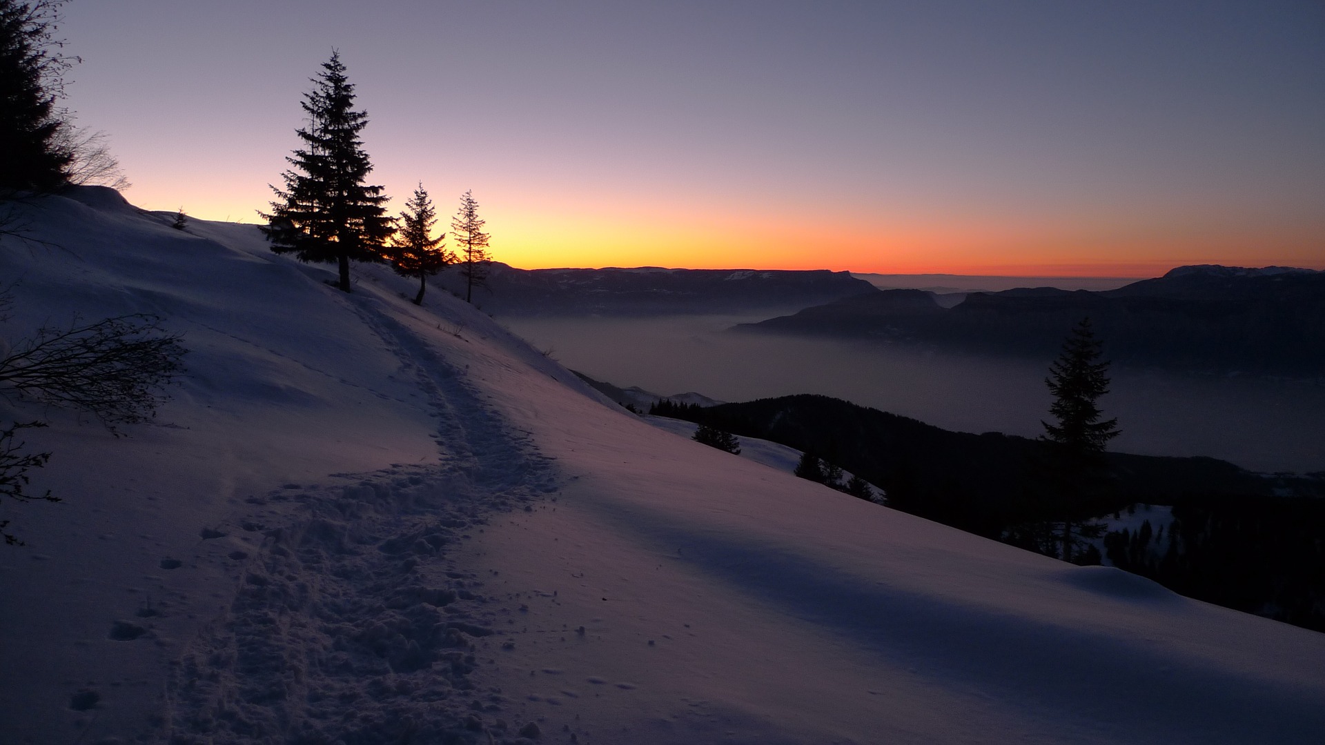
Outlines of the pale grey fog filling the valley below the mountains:
[{"label": "pale grey fog filling the valley below the mountains", "polygon": [[[501,322],[567,367],[619,386],[721,400],[824,394],[947,430],[1043,432],[1049,359],[990,358],[783,335],[723,333],[749,315],[529,318]],[[1067,330],[1064,330],[1067,333]],[[1108,339],[1105,339],[1108,355]],[[1325,386],[1313,380],[1114,369],[1100,399],[1112,449],[1204,455],[1255,471],[1325,469]]]}]

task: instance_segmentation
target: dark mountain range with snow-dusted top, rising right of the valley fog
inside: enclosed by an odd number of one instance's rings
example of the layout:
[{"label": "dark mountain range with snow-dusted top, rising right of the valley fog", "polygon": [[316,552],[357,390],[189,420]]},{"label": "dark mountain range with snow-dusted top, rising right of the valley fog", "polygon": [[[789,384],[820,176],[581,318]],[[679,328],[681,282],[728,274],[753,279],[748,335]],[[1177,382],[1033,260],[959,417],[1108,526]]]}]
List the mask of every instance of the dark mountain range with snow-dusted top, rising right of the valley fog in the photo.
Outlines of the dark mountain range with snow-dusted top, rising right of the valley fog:
[{"label": "dark mountain range with snow-dusted top, rising right of the valley fog", "polygon": [[734,330],[1052,357],[1084,317],[1116,362],[1325,374],[1325,272],[1285,266],[1179,266],[1112,290],[971,293],[953,308],[925,290],[872,290]]}]

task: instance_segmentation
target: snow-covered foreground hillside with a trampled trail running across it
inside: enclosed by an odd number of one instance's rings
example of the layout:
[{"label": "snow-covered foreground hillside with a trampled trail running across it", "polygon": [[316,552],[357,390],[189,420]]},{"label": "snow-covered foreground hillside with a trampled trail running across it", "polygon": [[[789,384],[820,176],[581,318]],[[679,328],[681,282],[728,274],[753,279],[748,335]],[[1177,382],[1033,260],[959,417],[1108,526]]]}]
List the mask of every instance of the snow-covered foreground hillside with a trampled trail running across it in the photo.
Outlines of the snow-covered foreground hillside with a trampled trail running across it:
[{"label": "snow-covered foreground hillside with a trampled trail running across it", "polygon": [[151,312],[155,426],[45,418],[0,551],[5,742],[1318,742],[1325,636],[651,427],[481,313],[30,211],[7,338]]}]

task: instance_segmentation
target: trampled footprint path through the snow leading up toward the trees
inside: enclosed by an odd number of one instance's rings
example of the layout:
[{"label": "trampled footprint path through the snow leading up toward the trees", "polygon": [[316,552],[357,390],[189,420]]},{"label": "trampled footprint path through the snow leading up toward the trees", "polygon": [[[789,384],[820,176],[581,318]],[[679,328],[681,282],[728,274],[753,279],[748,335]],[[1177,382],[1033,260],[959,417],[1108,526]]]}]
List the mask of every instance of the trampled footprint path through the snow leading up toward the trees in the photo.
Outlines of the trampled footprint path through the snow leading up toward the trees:
[{"label": "trampled footprint path through the snow leading up toward the trees", "polygon": [[555,490],[555,471],[425,339],[355,309],[419,379],[440,463],[249,497],[238,528],[261,549],[175,663],[158,742],[492,741],[472,712],[504,699],[469,673],[496,614],[447,547]]}]

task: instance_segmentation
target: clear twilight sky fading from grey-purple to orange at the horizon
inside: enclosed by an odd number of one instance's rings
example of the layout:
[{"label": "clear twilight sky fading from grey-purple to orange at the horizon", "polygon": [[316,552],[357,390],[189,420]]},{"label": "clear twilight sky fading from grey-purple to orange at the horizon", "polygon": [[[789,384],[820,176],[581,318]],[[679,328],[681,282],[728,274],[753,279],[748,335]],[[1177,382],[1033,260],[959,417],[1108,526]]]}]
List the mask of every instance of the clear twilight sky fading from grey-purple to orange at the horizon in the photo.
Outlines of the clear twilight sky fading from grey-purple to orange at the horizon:
[{"label": "clear twilight sky fading from grey-purple to orange at the horizon", "polygon": [[1325,268],[1314,0],[69,0],[60,36],[148,209],[258,221],[337,49],[392,213],[472,190],[521,268]]}]

